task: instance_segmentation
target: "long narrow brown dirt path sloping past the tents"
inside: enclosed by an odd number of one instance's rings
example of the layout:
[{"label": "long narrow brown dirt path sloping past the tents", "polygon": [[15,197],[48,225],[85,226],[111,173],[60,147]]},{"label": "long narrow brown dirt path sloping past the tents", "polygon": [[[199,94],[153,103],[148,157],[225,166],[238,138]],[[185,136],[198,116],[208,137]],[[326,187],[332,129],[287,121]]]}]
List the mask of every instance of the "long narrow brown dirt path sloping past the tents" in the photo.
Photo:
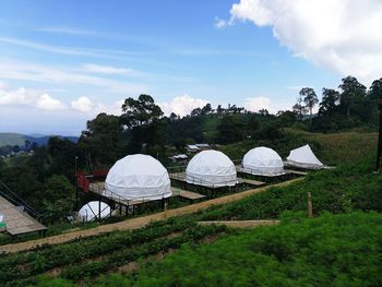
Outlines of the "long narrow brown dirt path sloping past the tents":
[{"label": "long narrow brown dirt path sloping past the tents", "polygon": [[95,236],[95,235],[105,234],[105,232],[112,232],[116,230],[133,230],[133,229],[141,228],[153,220],[160,220],[160,219],[170,218],[170,217],[175,217],[175,216],[179,216],[179,215],[195,213],[198,211],[205,210],[205,208],[213,206],[213,205],[219,205],[219,204],[239,201],[239,200],[244,199],[251,194],[266,191],[271,187],[285,187],[285,186],[289,186],[293,182],[299,181],[302,178],[298,178],[298,179],[288,180],[288,181],[285,181],[282,183],[264,187],[264,188],[247,190],[243,192],[239,192],[239,193],[235,193],[235,194],[230,194],[230,195],[226,195],[226,196],[222,196],[222,198],[217,198],[217,199],[187,205],[187,206],[175,208],[175,210],[169,210],[166,212],[155,213],[155,214],[151,214],[151,215],[146,215],[146,216],[138,217],[138,218],[132,218],[132,219],[127,219],[127,220],[116,223],[116,224],[108,224],[108,225],[98,226],[98,227],[87,229],[87,230],[77,230],[77,231],[73,231],[73,232],[40,238],[40,239],[36,239],[36,240],[31,240],[31,241],[1,246],[0,253],[3,253],[3,252],[14,253],[14,252],[19,252],[19,251],[34,249],[38,246],[44,246],[44,244],[59,244],[59,243],[68,242],[68,241],[71,241],[71,240],[74,240],[77,238],[84,238],[84,237]]}]

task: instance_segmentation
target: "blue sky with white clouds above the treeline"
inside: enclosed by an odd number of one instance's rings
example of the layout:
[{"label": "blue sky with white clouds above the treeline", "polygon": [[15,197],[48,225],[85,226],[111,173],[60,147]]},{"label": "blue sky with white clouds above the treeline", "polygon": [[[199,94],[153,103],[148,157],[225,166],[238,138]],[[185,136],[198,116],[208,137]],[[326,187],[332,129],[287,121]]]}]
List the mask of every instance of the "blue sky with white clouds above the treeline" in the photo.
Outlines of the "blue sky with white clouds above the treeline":
[{"label": "blue sky with white clouds above the treeline", "polygon": [[80,134],[151,94],[272,112],[382,76],[381,0],[1,0],[0,132]]}]

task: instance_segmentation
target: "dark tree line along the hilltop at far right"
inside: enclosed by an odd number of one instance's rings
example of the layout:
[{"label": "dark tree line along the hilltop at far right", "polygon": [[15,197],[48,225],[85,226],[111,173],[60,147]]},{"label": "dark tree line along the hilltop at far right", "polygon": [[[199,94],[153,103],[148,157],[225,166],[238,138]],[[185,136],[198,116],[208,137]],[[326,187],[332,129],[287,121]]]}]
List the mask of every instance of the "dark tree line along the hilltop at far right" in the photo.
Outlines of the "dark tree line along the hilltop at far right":
[{"label": "dark tree line along the hilltop at far right", "polygon": [[[367,88],[355,76],[342,79],[338,88],[322,88],[322,100],[311,87],[303,87],[293,110],[303,121],[309,112],[312,131],[338,131],[361,125],[378,124],[377,100],[382,95],[382,79],[372,82]],[[319,105],[313,117],[312,110]]]}]

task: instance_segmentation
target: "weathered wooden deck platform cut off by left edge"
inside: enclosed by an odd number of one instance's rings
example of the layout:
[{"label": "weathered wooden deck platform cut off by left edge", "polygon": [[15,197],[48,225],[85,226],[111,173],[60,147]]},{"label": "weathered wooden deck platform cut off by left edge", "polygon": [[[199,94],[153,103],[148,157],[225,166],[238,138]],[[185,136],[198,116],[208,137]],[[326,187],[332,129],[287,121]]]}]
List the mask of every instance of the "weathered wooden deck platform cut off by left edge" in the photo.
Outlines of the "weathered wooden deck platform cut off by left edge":
[{"label": "weathered wooden deck platform cut off by left edge", "polygon": [[0,196],[0,212],[4,216],[3,222],[7,224],[5,231],[12,236],[47,229],[26,212],[20,210],[17,206],[14,206],[2,196]]}]

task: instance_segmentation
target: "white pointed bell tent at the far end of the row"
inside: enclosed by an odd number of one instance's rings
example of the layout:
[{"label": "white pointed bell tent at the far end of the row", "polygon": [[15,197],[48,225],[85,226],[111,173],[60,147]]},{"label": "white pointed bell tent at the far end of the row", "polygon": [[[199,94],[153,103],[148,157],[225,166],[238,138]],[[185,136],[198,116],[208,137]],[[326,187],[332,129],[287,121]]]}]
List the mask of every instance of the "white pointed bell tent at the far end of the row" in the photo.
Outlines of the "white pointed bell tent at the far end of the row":
[{"label": "white pointed bell tent at the far end of the row", "polygon": [[306,169],[323,168],[323,164],[315,157],[309,144],[290,151],[287,165]]}]

